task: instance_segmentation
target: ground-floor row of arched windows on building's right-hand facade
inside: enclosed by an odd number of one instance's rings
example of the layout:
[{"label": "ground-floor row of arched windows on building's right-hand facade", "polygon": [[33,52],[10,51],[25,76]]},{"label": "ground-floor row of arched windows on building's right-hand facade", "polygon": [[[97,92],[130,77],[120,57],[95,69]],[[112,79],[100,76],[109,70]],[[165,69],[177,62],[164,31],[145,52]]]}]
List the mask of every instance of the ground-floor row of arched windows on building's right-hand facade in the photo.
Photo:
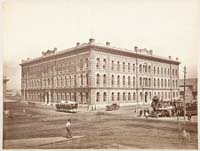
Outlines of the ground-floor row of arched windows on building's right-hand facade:
[{"label": "ground-floor row of arched windows on building's right-hand facade", "polygon": [[[178,92],[173,92],[172,93],[172,98],[174,99],[175,97],[178,97]],[[107,101],[107,93],[106,92],[103,92],[103,102],[106,102]],[[154,92],[154,96],[158,96],[159,98],[161,99],[170,99],[171,98],[171,93],[170,92]],[[116,98],[115,98],[116,97]],[[139,93],[139,101],[141,100],[144,100],[145,102],[147,102],[147,100],[151,100],[152,99],[152,93],[151,92],[140,92]],[[101,94],[100,92],[97,92],[96,93],[96,102],[101,102]],[[136,93],[133,92],[123,92],[123,93],[120,93],[120,92],[117,92],[117,93],[114,93],[112,92],[111,93],[111,101],[120,101],[120,100],[123,100],[123,101],[134,101],[136,100]]]}]

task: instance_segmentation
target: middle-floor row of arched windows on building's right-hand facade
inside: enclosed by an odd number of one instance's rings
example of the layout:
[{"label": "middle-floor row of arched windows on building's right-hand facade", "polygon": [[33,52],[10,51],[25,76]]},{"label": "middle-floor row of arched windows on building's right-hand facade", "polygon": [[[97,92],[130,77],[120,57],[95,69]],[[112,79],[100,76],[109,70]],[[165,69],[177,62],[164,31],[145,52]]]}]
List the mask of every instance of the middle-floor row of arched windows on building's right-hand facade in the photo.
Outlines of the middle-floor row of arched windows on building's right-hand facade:
[{"label": "middle-floor row of arched windows on building's right-hand facade", "polygon": [[[136,85],[136,79],[135,77],[132,77],[132,80],[131,80],[131,77],[130,76],[127,76],[127,79],[126,79],[126,76],[122,76],[122,79],[123,79],[123,85],[125,86],[126,85],[126,81],[127,81],[127,84],[128,86],[130,85],[133,85],[133,87],[135,87]],[[96,84],[99,85],[100,84],[100,81],[101,81],[101,78],[100,78],[100,74],[97,74],[96,75]],[[132,81],[132,84],[131,84],[131,81]],[[139,86],[140,87],[151,87],[151,78],[142,78],[140,77],[139,78]],[[106,74],[103,75],[103,84],[106,85],[107,84],[107,76]],[[111,76],[111,85],[114,86],[115,85],[115,76],[112,75]],[[120,75],[117,76],[117,85],[119,86],[120,85]],[[168,79],[156,79],[154,78],[153,80],[153,86],[154,87],[170,87],[170,80]],[[177,80],[172,80],[172,87],[178,87],[178,81]]]}]

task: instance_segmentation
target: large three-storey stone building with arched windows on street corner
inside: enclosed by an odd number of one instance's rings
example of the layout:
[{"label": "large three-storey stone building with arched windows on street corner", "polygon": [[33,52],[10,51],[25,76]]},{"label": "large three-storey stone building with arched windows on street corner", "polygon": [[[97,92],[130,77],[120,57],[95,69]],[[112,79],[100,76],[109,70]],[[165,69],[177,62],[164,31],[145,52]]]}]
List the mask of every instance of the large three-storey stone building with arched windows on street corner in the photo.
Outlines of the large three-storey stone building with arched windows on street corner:
[{"label": "large three-storey stone building with arched windows on street corner", "polygon": [[44,104],[143,104],[155,95],[174,100],[179,98],[179,64],[178,58],[159,57],[152,50],[126,50],[89,39],[22,60],[21,94],[24,100]]}]

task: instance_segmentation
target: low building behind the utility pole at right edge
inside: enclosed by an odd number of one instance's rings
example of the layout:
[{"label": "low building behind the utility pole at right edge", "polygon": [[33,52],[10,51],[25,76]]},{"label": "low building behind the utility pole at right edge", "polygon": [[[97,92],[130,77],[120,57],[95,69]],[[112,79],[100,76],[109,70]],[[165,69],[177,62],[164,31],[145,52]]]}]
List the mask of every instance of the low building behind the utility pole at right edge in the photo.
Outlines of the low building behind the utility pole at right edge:
[{"label": "low building behind the utility pole at right edge", "polygon": [[[186,79],[185,80],[185,100],[190,103],[192,101],[197,101],[197,91],[198,91],[198,80],[197,79]],[[179,81],[180,95],[183,98],[184,95],[184,80]]]}]

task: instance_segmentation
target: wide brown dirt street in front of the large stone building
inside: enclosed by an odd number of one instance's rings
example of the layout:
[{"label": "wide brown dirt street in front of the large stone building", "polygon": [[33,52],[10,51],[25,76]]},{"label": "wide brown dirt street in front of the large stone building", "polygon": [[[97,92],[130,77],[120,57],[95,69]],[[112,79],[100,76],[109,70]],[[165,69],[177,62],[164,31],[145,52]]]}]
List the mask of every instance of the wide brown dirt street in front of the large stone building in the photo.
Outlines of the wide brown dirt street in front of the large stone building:
[{"label": "wide brown dirt street in front of the large stone building", "polygon": [[[186,122],[191,141],[183,142],[182,123],[139,118],[134,110],[112,112],[57,112],[55,109],[8,103],[13,117],[4,116],[4,140],[66,136],[65,123],[72,121],[72,135],[80,139],[32,148],[55,149],[197,149],[197,123]],[[12,146],[9,146],[12,148]],[[22,147],[26,148],[26,147]],[[20,148],[18,148],[20,149]]]}]

